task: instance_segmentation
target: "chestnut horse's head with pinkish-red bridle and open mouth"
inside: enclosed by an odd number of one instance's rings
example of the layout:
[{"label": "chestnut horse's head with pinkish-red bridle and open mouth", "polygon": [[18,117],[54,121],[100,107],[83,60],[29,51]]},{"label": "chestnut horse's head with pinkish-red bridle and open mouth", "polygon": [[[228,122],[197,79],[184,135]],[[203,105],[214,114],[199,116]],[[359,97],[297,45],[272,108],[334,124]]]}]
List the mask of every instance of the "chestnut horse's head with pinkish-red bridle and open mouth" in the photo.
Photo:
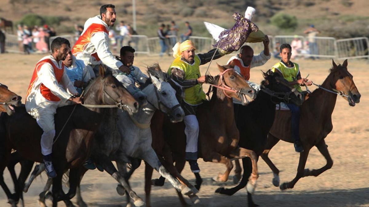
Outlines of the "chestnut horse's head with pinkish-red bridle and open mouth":
[{"label": "chestnut horse's head with pinkish-red bridle and open mouth", "polygon": [[242,102],[242,105],[248,102],[246,95],[251,99],[255,99],[256,90],[237,71],[230,66],[220,66],[218,64],[217,66],[220,71],[217,85],[223,85],[223,87],[229,89],[223,90],[227,97],[238,99]]}]

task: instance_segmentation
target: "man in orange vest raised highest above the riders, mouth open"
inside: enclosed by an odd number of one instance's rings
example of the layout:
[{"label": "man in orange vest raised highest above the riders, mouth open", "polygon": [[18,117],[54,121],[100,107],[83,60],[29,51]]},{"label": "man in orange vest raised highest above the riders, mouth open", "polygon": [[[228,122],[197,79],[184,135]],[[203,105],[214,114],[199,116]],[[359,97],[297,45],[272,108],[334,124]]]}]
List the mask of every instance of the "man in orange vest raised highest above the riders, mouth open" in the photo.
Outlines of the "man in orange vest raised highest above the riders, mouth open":
[{"label": "man in orange vest raised highest above the riders, mouth open", "polygon": [[[77,59],[83,60],[86,67],[98,74],[98,65],[104,64],[113,69],[113,73],[124,72],[129,74],[130,69],[115,59],[110,52],[109,30],[116,20],[115,6],[105,4],[100,7],[100,15],[89,18],[81,36],[73,46],[72,53]],[[120,71],[118,71],[120,70]],[[92,77],[95,75],[92,74]]]}]

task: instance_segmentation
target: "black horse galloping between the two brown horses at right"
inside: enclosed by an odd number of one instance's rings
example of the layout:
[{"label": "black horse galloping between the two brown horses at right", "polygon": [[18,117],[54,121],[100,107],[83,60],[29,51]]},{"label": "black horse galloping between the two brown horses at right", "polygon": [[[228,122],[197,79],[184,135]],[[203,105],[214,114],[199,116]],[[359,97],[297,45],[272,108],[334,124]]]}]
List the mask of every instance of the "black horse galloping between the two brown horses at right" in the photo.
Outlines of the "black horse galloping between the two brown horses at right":
[{"label": "black horse galloping between the two brown horses at right", "polygon": [[[239,130],[238,145],[254,151],[258,158],[265,149],[268,132],[273,125],[276,113],[276,104],[284,101],[301,105],[303,102],[303,96],[294,90],[280,74],[268,70],[267,73],[263,73],[263,77],[265,80],[261,83],[261,90],[256,99],[248,105],[237,104],[235,106],[238,107],[235,119]],[[251,160],[243,158],[242,164],[244,173],[241,182],[231,189],[220,187],[215,192],[231,196],[246,186],[251,174]],[[248,206],[257,206],[252,201],[251,193],[247,194]]]}]

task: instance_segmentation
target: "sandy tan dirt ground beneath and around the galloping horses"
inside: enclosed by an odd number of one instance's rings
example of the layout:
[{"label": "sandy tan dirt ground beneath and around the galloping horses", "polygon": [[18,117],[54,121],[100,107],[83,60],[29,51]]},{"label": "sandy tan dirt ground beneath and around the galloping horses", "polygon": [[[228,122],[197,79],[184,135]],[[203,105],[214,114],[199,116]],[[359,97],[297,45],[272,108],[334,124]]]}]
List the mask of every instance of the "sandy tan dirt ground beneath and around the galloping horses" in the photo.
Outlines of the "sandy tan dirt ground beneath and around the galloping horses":
[{"label": "sandy tan dirt ground beneath and around the galloping horses", "polygon": [[[35,64],[43,55],[0,55],[0,83],[8,85],[9,89],[25,97],[32,71]],[[225,64],[230,56],[215,60],[211,66],[211,74],[218,73],[215,62]],[[162,69],[167,69],[172,57],[148,57],[139,55],[135,59],[135,65],[144,68],[146,64],[159,62]],[[265,66],[251,70],[251,81],[260,82],[261,71],[266,71],[277,59],[271,59]],[[330,59],[323,60],[296,60],[300,64],[303,77],[310,74],[309,79],[317,84],[323,83],[331,67]],[[343,60],[337,60],[342,63]],[[201,73],[205,73],[206,67],[201,66]],[[369,72],[366,60],[349,60],[348,68],[354,76],[356,86],[361,93],[361,102],[355,107],[348,105],[343,98],[338,97],[335,110],[332,115],[333,131],[327,136],[326,143],[334,161],[333,167],[318,177],[302,178],[294,189],[281,192],[278,187],[272,185],[273,174],[269,167],[259,161],[260,177],[256,192],[253,196],[256,204],[260,206],[369,206]],[[207,88],[207,87],[204,87]],[[315,87],[310,87],[310,90]],[[24,102],[24,99],[23,99]],[[280,141],[269,154],[269,157],[280,169],[280,181],[290,181],[296,175],[299,154],[294,151],[293,145]],[[211,180],[218,172],[224,172],[222,164],[205,163],[199,160],[203,185],[197,194],[201,202],[199,207],[238,207],[247,205],[245,189],[239,190],[233,196],[215,194],[219,186],[232,187],[231,180],[225,183],[216,183]],[[320,152],[313,148],[310,151],[306,168],[317,169],[325,165],[325,159]],[[19,171],[19,166],[18,171]],[[233,172],[231,173],[231,176]],[[194,183],[194,175],[186,164],[183,176]],[[5,181],[10,187],[11,179],[6,170]],[[154,178],[159,174],[154,172]],[[38,206],[38,193],[46,181],[46,176],[38,178],[24,195],[26,206]],[[144,164],[134,173],[130,184],[135,192],[145,198],[144,193]],[[119,196],[116,191],[116,182],[106,172],[89,171],[82,180],[82,195],[88,206],[118,207],[125,206],[125,197]],[[0,206],[7,206],[5,193],[0,190]],[[190,203],[188,198],[187,202]],[[73,201],[76,201],[74,198]],[[152,187],[151,202],[153,207],[180,206],[177,194],[169,183],[163,187]],[[51,202],[48,202],[50,205]],[[59,202],[59,206],[64,206]]]}]

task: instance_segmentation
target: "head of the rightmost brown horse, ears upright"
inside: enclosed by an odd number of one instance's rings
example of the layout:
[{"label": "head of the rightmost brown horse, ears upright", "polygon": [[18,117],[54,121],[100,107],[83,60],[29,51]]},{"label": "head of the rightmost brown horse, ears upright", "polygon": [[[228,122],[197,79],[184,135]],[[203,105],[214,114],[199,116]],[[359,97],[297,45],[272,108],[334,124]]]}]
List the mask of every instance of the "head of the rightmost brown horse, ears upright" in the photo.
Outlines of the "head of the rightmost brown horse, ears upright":
[{"label": "head of the rightmost brown horse, ears upright", "polygon": [[332,60],[333,67],[330,69],[330,85],[332,89],[339,91],[348,101],[350,106],[355,106],[355,103],[360,102],[360,93],[352,79],[354,76],[347,70],[347,59],[344,63],[337,64]]}]

